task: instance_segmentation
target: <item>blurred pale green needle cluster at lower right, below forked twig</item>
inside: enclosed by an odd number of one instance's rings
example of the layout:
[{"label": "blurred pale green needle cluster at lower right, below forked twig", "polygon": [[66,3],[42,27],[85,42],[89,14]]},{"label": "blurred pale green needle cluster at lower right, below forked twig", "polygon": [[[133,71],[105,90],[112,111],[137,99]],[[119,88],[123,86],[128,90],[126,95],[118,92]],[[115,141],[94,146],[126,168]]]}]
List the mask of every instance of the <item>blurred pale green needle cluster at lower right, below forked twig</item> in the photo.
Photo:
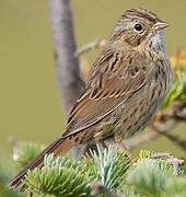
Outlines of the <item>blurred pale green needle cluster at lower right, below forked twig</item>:
[{"label": "blurred pale green needle cluster at lower right, below forked twig", "polygon": [[148,196],[160,197],[173,177],[173,167],[165,160],[142,159],[136,163],[127,177],[130,189]]}]

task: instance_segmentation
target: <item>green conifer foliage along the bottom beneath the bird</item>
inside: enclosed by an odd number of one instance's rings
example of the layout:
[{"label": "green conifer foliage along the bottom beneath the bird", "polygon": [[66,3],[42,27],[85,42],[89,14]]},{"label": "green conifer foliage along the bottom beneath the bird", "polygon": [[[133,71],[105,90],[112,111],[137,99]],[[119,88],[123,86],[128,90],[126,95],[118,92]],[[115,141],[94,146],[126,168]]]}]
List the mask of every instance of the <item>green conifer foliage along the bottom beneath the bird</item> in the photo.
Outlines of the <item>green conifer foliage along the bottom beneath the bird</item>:
[{"label": "green conifer foliage along the bottom beneath the bird", "polygon": [[[31,144],[27,143],[33,154]],[[69,155],[54,159],[49,154],[45,157],[40,170],[28,171],[25,184],[28,192],[40,196],[186,196],[185,165],[178,166],[178,175],[174,175],[172,164],[163,158],[152,159],[154,154],[151,151],[140,151],[133,160],[119,149],[101,150],[100,147],[98,153],[92,151],[80,161]]]}]

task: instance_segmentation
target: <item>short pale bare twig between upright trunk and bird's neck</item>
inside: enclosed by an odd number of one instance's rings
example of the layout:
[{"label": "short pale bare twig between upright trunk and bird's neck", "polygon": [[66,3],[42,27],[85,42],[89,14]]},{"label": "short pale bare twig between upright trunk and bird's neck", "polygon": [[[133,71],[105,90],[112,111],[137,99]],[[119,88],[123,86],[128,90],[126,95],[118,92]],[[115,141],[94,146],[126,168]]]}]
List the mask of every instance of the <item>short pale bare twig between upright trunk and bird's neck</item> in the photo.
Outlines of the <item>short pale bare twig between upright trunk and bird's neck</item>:
[{"label": "short pale bare twig between upright trunk and bird's neck", "polygon": [[75,56],[81,56],[82,54],[92,50],[94,48],[104,47],[106,45],[106,39],[95,39],[86,45],[81,46],[77,51]]}]

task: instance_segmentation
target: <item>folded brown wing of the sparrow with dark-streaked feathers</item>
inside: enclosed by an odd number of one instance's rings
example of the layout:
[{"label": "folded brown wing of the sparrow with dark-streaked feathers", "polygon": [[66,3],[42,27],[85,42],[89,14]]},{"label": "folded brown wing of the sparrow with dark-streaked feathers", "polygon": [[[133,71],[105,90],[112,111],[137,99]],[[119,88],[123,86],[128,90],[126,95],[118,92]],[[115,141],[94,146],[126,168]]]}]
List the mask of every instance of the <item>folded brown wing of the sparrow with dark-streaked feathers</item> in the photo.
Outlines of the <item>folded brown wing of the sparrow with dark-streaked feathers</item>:
[{"label": "folded brown wing of the sparrow with dark-streaked feathers", "polygon": [[[111,59],[123,68],[119,73],[115,72],[114,67],[105,70]],[[144,67],[147,62],[138,61],[129,66],[129,61],[131,62],[130,59],[119,59],[114,54],[111,56],[111,53],[104,60],[95,61],[90,71],[89,86],[73,107],[63,137],[96,124],[149,82],[152,69]],[[150,62],[149,68],[152,68]]]}]

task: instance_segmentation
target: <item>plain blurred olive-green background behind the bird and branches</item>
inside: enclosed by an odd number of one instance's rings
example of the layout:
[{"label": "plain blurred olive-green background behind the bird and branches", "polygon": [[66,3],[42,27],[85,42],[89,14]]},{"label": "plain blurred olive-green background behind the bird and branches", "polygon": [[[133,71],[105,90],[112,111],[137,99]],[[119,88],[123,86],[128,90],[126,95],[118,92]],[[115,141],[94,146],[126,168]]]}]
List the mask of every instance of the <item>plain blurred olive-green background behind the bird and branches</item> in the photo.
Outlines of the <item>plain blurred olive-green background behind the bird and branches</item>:
[{"label": "plain blurred olive-green background behind the bird and branches", "polygon": [[[171,26],[165,32],[170,56],[186,49],[186,1],[73,0],[78,46],[107,37],[126,9],[141,7],[155,12]],[[97,50],[84,58],[92,63]],[[65,130],[60,92],[56,80],[48,1],[0,0],[0,153],[11,155],[9,138],[48,144]],[[173,132],[186,139],[186,125]],[[184,152],[165,138],[140,149]]]}]

